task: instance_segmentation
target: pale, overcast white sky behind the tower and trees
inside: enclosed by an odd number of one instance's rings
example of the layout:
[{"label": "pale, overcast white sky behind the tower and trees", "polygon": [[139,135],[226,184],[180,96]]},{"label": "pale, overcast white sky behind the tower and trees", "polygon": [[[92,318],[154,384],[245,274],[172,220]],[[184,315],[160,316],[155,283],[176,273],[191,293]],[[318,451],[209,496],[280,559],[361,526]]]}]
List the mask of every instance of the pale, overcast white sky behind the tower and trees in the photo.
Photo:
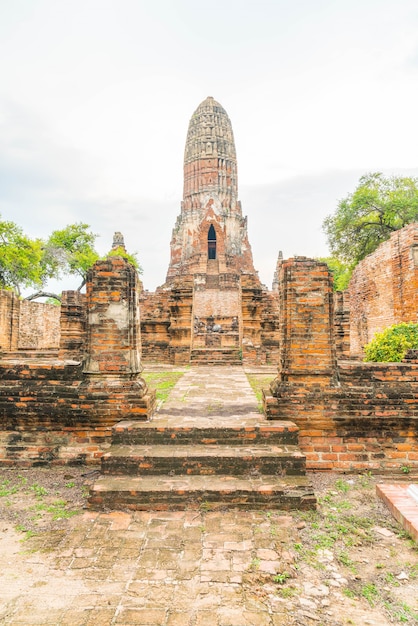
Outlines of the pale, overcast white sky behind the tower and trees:
[{"label": "pale, overcast white sky behind the tower and trees", "polygon": [[[121,231],[165,281],[189,120],[235,136],[254,265],[326,256],[367,172],[418,176],[417,0],[0,0],[0,214]],[[76,285],[66,279],[61,288]]]}]

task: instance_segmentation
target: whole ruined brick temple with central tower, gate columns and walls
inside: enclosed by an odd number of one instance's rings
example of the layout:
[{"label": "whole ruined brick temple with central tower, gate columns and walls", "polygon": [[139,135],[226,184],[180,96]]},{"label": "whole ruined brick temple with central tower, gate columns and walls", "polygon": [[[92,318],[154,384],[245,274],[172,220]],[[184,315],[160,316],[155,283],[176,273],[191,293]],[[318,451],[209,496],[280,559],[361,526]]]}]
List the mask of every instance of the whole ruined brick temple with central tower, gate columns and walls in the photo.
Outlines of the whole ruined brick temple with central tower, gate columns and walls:
[{"label": "whole ruined brick temple with central tower, gate columns and walls", "polygon": [[[121,246],[117,233],[114,247]],[[164,285],[144,291],[133,266],[109,256],[90,270],[86,294],[64,292],[61,307],[0,292],[0,464],[102,461],[104,471],[126,468],[136,461],[118,465],[111,452],[105,458],[120,440],[128,447],[144,437],[171,445],[184,436],[197,446],[199,465],[201,448],[215,441],[226,456],[233,434],[237,455],[243,454],[238,440],[248,437],[262,448],[268,437],[293,446],[301,475],[305,466],[379,473],[403,466],[418,473],[416,353],[402,363],[361,360],[377,331],[417,321],[417,250],[418,224],[410,224],[357,266],[344,293],[333,291],[325,263],[279,255],[269,291],[254,269],[238,200],[231,123],[207,98],[189,124],[183,201]],[[193,422],[194,430],[183,433],[175,417],[158,426],[155,393],[141,375],[152,361],[269,364],[264,417],[241,424],[242,432],[229,423],[202,434]],[[183,451],[190,456],[190,448]],[[253,453],[261,454],[256,447]],[[182,466],[181,451],[178,456]],[[127,497],[137,493],[126,485]],[[277,489],[286,500],[286,488]],[[107,502],[101,492],[94,497]],[[259,502],[255,492],[248,497]],[[298,498],[312,505],[306,483]]]}]

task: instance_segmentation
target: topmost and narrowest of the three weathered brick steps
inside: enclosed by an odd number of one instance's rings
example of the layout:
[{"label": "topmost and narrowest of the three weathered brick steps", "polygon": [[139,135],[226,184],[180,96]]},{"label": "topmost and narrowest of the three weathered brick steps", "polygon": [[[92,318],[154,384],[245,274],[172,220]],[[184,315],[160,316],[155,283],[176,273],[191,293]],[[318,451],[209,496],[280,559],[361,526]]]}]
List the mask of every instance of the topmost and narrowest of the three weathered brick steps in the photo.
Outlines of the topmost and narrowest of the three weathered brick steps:
[{"label": "topmost and narrowest of the three weathered brick steps", "polygon": [[112,430],[114,444],[297,445],[299,429],[293,422],[263,418],[158,418],[149,422],[124,420]]}]

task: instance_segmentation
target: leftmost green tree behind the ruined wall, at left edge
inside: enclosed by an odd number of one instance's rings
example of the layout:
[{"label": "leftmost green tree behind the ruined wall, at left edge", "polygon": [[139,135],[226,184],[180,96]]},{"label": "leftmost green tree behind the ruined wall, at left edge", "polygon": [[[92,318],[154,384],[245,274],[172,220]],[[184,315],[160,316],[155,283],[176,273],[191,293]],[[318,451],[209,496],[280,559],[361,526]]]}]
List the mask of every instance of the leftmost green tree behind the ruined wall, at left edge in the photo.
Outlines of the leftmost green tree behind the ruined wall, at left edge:
[{"label": "leftmost green tree behind the ruined wall, at left edge", "polygon": [[42,266],[43,242],[30,239],[14,222],[0,219],[0,287],[20,295],[26,287],[41,287],[48,270]]}]

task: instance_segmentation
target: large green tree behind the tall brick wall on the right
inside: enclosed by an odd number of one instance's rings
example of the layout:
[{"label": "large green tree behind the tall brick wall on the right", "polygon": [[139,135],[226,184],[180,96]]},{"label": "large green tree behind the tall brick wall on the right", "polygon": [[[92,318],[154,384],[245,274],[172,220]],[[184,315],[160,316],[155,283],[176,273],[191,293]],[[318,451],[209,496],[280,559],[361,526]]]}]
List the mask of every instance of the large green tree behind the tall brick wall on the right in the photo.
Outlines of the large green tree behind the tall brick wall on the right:
[{"label": "large green tree behind the tall brick wall on the right", "polygon": [[332,256],[353,268],[390,235],[418,221],[418,178],[372,173],[323,223]]}]

